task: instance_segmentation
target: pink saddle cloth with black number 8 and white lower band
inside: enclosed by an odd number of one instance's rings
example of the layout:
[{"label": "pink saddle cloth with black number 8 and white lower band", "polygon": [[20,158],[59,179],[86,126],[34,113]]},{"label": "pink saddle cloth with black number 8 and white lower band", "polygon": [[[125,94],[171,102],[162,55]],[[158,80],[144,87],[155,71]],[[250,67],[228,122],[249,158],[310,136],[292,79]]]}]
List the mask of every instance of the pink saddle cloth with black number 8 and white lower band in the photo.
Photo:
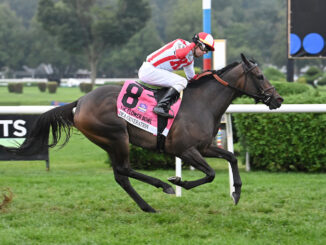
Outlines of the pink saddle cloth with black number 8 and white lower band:
[{"label": "pink saddle cloth with black number 8 and white lower band", "polygon": [[[117,113],[119,117],[130,124],[157,135],[158,120],[157,115],[153,112],[156,104],[153,91],[146,90],[136,81],[127,80],[118,96]],[[170,110],[173,112],[174,118],[179,111],[180,105],[181,98],[171,106]],[[167,126],[162,132],[164,136],[168,135],[174,118],[168,119]]]}]

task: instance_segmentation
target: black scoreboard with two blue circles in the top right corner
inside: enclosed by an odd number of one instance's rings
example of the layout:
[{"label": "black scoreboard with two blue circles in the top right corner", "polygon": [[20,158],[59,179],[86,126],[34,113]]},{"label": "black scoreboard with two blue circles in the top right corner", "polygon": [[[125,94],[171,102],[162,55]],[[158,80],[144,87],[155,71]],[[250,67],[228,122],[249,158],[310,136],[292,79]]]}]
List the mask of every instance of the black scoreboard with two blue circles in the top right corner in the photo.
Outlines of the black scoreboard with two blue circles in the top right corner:
[{"label": "black scoreboard with two blue circles in the top right corner", "polygon": [[326,0],[288,0],[288,57],[326,57]]}]

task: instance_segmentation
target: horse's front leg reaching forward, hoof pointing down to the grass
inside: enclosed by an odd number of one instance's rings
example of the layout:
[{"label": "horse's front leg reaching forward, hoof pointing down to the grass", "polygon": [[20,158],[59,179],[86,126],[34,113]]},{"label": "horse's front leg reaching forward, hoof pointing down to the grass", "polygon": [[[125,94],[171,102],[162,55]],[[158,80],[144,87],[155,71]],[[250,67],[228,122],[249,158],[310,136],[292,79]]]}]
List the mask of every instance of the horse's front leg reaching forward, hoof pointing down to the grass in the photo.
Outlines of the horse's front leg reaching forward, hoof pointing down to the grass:
[{"label": "horse's front leg reaching forward, hoof pointing down to the grass", "polygon": [[202,152],[202,155],[204,157],[224,158],[225,160],[229,161],[232,169],[232,174],[233,174],[233,186],[235,189],[235,191],[232,193],[232,198],[234,204],[238,204],[241,195],[242,182],[241,182],[239,169],[238,169],[238,160],[236,159],[234,154],[232,152],[221,149],[217,146],[210,145],[209,148],[207,148],[204,152]]}]

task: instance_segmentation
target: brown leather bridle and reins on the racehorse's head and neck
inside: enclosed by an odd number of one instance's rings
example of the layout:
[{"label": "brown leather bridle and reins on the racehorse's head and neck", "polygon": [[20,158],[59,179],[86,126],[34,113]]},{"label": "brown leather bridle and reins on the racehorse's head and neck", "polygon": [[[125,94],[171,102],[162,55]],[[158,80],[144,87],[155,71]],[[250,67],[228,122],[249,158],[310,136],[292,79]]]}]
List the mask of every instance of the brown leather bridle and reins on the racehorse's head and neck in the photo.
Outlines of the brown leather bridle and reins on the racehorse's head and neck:
[{"label": "brown leather bridle and reins on the racehorse's head and neck", "polygon": [[[250,74],[250,72],[257,67],[257,64],[251,66],[249,69],[246,69],[245,65],[242,63],[242,67],[243,67],[243,70],[244,70],[244,75],[245,75],[245,82],[244,82],[244,88],[246,88],[247,86],[247,77],[248,77],[248,74]],[[241,76],[243,75],[241,74]],[[251,94],[251,93],[248,93],[247,91],[243,90],[243,89],[240,89],[240,88],[237,88],[236,86],[233,86],[231,85],[230,83],[228,83],[227,81],[223,80],[219,75],[217,75],[215,72],[213,71],[204,71],[202,73],[200,73],[198,75],[198,77],[196,78],[196,80],[202,78],[202,77],[205,77],[205,76],[209,76],[209,75],[212,75],[216,81],[218,81],[220,84],[222,84],[223,86],[225,87],[229,87],[233,90],[236,90],[238,93],[240,94],[245,94],[253,99],[255,99],[256,103],[258,103],[259,101],[262,101],[263,103],[265,104],[269,104],[269,101],[271,100],[272,96],[273,96],[273,93],[271,94],[266,94],[266,92],[268,92],[269,90],[275,90],[274,87],[270,87],[270,88],[267,88],[267,89],[263,89],[260,84],[258,84],[257,82],[255,82],[254,80],[254,85],[257,89],[257,91],[259,91],[260,94]],[[263,77],[259,78],[260,81],[264,80]]]}]

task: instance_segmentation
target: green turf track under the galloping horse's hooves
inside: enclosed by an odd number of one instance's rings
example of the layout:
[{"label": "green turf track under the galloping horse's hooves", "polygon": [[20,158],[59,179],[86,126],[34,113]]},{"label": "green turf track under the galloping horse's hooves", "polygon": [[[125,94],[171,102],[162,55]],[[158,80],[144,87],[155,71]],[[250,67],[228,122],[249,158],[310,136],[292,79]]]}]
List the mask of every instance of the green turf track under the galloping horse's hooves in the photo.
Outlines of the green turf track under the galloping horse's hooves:
[{"label": "green turf track under the galloping horse's hooves", "polygon": [[[322,174],[241,169],[243,193],[234,206],[226,162],[210,161],[214,182],[181,198],[132,180],[159,211],[147,214],[115,183],[105,153],[81,135],[50,156],[50,172],[43,162],[0,163],[0,188],[15,195],[0,211],[0,244],[326,244]],[[201,176],[183,171],[184,179]]]}]

